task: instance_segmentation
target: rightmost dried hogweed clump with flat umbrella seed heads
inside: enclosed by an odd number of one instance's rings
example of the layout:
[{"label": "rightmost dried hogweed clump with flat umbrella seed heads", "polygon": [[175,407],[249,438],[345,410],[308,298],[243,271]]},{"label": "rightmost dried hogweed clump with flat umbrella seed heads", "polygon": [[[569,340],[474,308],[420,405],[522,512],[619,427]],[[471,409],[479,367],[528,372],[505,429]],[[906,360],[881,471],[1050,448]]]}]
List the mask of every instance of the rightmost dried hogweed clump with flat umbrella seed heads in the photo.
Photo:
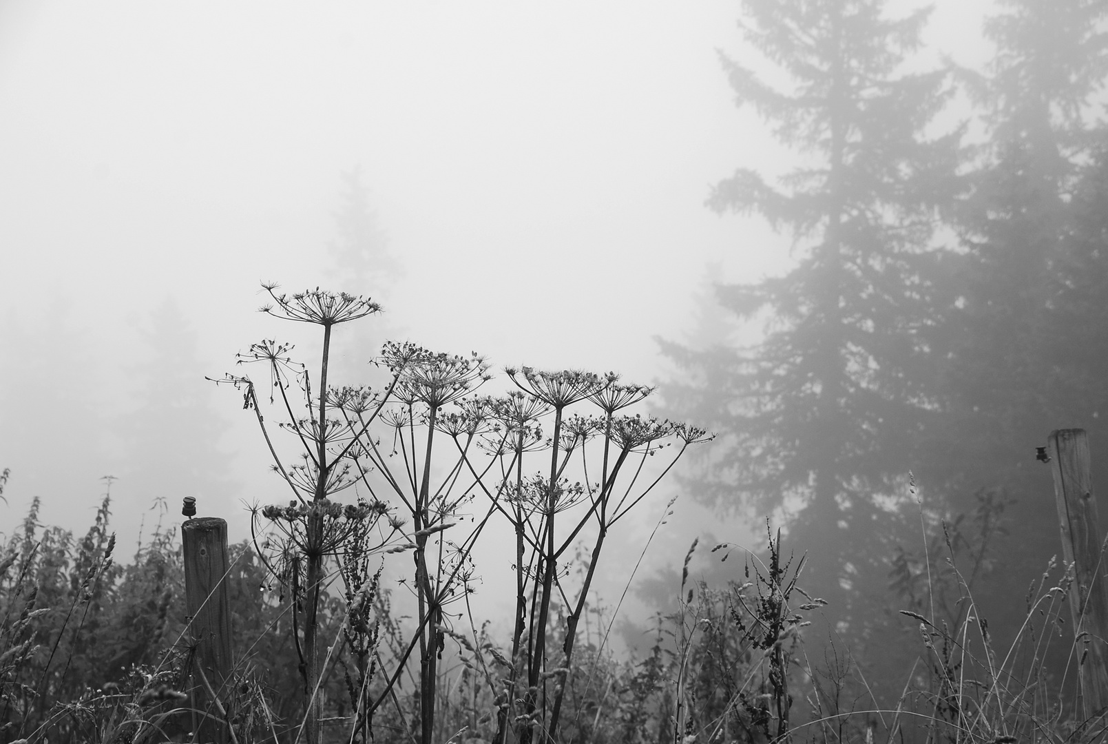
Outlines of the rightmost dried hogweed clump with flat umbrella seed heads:
[{"label": "rightmost dried hogweed clump with flat umbrella seed heads", "polygon": [[[506,436],[497,441],[499,449],[488,448],[500,461],[500,482],[495,491],[486,491],[516,537],[517,614],[512,665],[504,689],[496,691],[497,743],[506,742],[510,731],[521,742],[556,738],[573,683],[577,624],[606,536],[689,445],[708,439],[704,430],[683,424],[620,414],[653,388],[620,384],[614,373],[531,367],[506,371],[517,390],[489,406],[495,430]],[[578,406],[589,412],[570,410]],[[550,418],[552,434],[544,437],[542,422]],[[648,458],[674,444],[679,446],[669,450],[671,457],[660,468],[646,467]],[[530,475],[535,458],[540,470]],[[577,585],[568,585],[565,554],[571,547],[581,549],[582,542],[591,543],[587,568]],[[566,610],[565,626],[557,629],[562,648],[551,651],[550,622],[557,602]]]}]

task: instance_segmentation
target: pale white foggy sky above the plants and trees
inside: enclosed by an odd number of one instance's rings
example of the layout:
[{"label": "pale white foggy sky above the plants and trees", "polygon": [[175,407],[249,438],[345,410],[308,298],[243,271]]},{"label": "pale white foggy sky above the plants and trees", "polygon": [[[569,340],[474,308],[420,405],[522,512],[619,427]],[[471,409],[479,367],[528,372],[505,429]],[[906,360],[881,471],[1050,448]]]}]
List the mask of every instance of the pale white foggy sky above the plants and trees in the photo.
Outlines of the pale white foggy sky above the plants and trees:
[{"label": "pale white foggy sky above the plants and trees", "polygon": [[[983,6],[941,3],[932,41],[979,57]],[[4,327],[62,307],[94,355],[69,360],[74,386],[125,408],[136,328],[171,296],[218,375],[287,335],[254,313],[259,281],[359,291],[331,278],[326,248],[340,173],[360,164],[404,271],[387,310],[411,339],[654,381],[654,337],[690,330],[709,263],[728,281],[788,264],[760,222],[704,206],[736,166],[786,162],[720,71],[717,49],[741,54],[738,13],[731,0],[0,0]],[[0,339],[0,383],[20,353]],[[18,395],[66,416],[47,387]],[[217,399],[235,496],[268,500],[253,421]],[[109,466],[69,472],[64,453],[98,444],[53,436],[28,442],[0,421],[13,470],[0,531],[33,495],[45,521],[88,524]],[[188,489],[173,487],[175,513]],[[237,498],[204,511],[243,523]]]}]

